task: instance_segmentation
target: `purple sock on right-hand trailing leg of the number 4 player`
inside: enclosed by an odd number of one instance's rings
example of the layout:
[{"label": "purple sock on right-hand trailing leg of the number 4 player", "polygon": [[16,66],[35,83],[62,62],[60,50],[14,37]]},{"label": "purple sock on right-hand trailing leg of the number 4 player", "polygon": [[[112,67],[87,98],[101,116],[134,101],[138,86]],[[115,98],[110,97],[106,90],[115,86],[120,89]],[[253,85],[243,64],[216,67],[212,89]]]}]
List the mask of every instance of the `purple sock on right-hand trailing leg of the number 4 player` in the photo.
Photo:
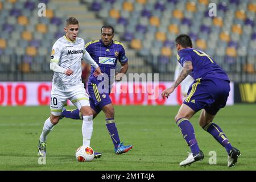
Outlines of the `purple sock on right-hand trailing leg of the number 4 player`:
[{"label": "purple sock on right-hand trailing leg of the number 4 player", "polygon": [[208,125],[204,126],[203,129],[207,131],[209,134],[213,135],[217,142],[220,143],[223,147],[225,147],[226,152],[228,152],[228,154],[230,153],[230,150],[232,150],[233,147],[229,143],[228,138],[226,138],[226,135],[223,133],[223,131],[218,125],[210,122]]}]

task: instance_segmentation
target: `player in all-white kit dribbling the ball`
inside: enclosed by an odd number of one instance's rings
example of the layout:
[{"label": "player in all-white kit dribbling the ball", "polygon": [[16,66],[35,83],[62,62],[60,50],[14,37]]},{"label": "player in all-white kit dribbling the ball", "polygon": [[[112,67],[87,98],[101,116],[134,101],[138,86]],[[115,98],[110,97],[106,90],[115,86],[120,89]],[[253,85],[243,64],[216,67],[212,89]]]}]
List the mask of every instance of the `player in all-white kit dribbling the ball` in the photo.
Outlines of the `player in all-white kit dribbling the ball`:
[{"label": "player in all-white kit dribbling the ball", "polygon": [[89,97],[81,81],[81,60],[86,60],[101,74],[98,64],[85,50],[84,39],[77,38],[79,22],[70,17],[64,27],[65,35],[59,38],[52,47],[50,69],[54,72],[51,90],[51,115],[44,122],[39,138],[38,155],[46,156],[46,137],[60,119],[62,109],[70,100],[83,115],[82,145],[90,146],[93,131],[93,113],[90,109]]}]

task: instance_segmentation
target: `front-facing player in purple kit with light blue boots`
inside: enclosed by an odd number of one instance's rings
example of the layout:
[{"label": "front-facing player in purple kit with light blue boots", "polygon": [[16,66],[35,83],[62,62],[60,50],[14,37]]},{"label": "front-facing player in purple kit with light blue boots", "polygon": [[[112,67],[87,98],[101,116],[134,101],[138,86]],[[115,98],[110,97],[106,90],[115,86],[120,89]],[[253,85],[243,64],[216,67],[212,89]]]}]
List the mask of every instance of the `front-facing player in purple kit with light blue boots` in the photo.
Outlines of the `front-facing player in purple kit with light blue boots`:
[{"label": "front-facing player in purple kit with light blue boots", "polygon": [[[101,28],[101,40],[92,40],[85,45],[85,49],[90,56],[100,66],[101,72],[105,73],[103,80],[99,80],[93,76],[94,68],[91,69],[91,75],[88,81],[88,92],[90,95],[90,107],[92,108],[93,118],[104,111],[106,120],[105,125],[114,144],[115,154],[123,154],[133,148],[132,145],[125,146],[120,142],[117,127],[114,119],[114,107],[109,97],[112,84],[114,81],[120,81],[122,76],[127,72],[128,59],[125,55],[123,44],[117,40],[113,40],[114,28],[106,25]],[[117,61],[121,63],[121,70],[115,75]],[[100,78],[100,76],[99,76]],[[104,82],[104,84],[102,84]],[[102,87],[102,85],[104,85]],[[108,88],[105,88],[107,85]],[[72,119],[82,119],[79,110],[63,110],[62,117]],[[101,153],[96,153],[96,158],[101,156]]]}]

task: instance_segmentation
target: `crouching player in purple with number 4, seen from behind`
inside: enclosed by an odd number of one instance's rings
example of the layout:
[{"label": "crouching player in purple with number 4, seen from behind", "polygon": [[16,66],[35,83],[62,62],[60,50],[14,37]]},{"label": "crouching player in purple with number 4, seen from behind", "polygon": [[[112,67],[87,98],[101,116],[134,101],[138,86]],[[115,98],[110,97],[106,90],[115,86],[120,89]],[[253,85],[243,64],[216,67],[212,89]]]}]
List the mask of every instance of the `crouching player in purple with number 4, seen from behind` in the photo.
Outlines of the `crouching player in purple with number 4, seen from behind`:
[{"label": "crouching player in purple with number 4, seen from behind", "polygon": [[225,147],[228,153],[228,167],[232,167],[237,162],[240,151],[230,144],[220,126],[213,123],[215,115],[218,110],[225,107],[229,96],[228,75],[212,57],[199,49],[192,48],[192,41],[188,35],[177,36],[175,42],[177,60],[183,69],[174,84],[162,92],[162,97],[168,98],[188,75],[195,80],[190,85],[188,96],[175,117],[175,122],[180,128],[183,138],[191,148],[188,158],[183,160],[180,166],[190,166],[193,162],[204,159],[204,154],[197,144],[193,126],[189,122],[189,119],[202,109],[199,125]]}]

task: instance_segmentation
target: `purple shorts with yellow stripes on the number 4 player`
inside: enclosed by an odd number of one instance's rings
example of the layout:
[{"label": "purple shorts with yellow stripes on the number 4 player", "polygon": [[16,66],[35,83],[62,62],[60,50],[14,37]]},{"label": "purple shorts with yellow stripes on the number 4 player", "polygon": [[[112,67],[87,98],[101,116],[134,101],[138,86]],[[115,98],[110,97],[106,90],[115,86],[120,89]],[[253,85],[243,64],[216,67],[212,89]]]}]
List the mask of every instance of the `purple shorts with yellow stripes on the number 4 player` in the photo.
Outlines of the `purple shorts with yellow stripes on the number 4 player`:
[{"label": "purple shorts with yellow stripes on the number 4 player", "polygon": [[228,80],[218,78],[198,78],[189,86],[188,96],[183,104],[195,112],[205,109],[207,113],[216,115],[225,107],[228,100],[230,85]]}]

